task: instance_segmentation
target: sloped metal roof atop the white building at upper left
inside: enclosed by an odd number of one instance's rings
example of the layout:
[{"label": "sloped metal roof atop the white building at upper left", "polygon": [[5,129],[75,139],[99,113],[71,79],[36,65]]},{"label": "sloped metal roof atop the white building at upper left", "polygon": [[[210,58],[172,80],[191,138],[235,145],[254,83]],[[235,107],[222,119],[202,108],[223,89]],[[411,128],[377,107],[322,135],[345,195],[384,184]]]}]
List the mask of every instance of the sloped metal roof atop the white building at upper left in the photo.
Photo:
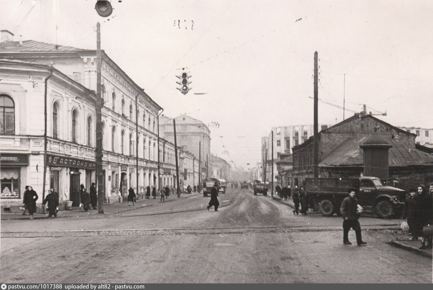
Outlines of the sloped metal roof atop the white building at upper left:
[{"label": "sloped metal roof atop the white building at upper left", "polygon": [[24,40],[23,45],[18,41],[7,41],[0,43],[0,52],[57,52],[57,51],[83,51],[72,46],[61,46],[35,40]]}]

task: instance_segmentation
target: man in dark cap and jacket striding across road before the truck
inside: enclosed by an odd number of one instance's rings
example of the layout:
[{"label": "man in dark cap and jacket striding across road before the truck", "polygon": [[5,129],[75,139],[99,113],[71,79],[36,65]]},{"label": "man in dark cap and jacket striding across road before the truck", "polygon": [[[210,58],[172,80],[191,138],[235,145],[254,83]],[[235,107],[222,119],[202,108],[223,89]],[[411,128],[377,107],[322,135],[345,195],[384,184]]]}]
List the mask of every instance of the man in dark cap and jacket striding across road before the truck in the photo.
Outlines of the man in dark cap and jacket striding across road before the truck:
[{"label": "man in dark cap and jacket striding across road before the truck", "polygon": [[343,217],[343,244],[352,244],[349,241],[349,230],[352,228],[356,234],[356,243],[358,246],[363,246],[367,242],[362,241],[361,225],[359,225],[359,217],[361,216],[362,207],[358,204],[358,199],[355,199],[355,189],[349,189],[349,196],[343,199],[340,212]]}]

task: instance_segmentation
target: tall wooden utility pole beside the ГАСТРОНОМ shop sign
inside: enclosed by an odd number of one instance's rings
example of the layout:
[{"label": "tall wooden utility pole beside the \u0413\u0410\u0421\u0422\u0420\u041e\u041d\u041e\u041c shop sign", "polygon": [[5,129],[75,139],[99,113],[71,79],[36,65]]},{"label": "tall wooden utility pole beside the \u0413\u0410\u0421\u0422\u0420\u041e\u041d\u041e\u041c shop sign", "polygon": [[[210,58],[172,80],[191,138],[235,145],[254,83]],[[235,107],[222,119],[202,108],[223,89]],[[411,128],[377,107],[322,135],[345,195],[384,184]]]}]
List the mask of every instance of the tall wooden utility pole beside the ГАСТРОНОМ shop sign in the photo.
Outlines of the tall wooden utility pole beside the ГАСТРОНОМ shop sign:
[{"label": "tall wooden utility pole beside the \u0413\u0410\u0421\u0422\u0420\u041e\u041d\u041e\u041c shop sign", "polygon": [[101,69],[101,26],[98,22],[96,24],[96,184],[98,189],[98,213],[103,214],[105,192],[103,192],[104,176],[102,171],[102,106],[104,100],[101,98]]}]

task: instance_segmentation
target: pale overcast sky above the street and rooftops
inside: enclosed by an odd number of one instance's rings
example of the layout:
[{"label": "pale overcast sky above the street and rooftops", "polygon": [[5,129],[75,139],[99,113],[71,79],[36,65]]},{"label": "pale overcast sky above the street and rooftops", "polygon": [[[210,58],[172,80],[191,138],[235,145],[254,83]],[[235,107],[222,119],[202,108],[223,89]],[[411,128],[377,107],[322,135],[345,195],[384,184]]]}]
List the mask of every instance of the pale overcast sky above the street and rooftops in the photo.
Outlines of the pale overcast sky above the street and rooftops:
[{"label": "pale overcast sky above the street and rooftops", "polygon": [[[0,29],[96,49],[99,21],[110,58],[165,115],[218,122],[211,150],[237,166],[260,161],[271,127],[313,123],[315,51],[323,101],[343,106],[345,94],[353,111],[366,104],[394,126],[433,128],[433,1],[113,0],[109,18],[95,3],[2,0]],[[186,95],[175,83],[183,67]],[[319,124],[342,120],[319,103]]]}]

